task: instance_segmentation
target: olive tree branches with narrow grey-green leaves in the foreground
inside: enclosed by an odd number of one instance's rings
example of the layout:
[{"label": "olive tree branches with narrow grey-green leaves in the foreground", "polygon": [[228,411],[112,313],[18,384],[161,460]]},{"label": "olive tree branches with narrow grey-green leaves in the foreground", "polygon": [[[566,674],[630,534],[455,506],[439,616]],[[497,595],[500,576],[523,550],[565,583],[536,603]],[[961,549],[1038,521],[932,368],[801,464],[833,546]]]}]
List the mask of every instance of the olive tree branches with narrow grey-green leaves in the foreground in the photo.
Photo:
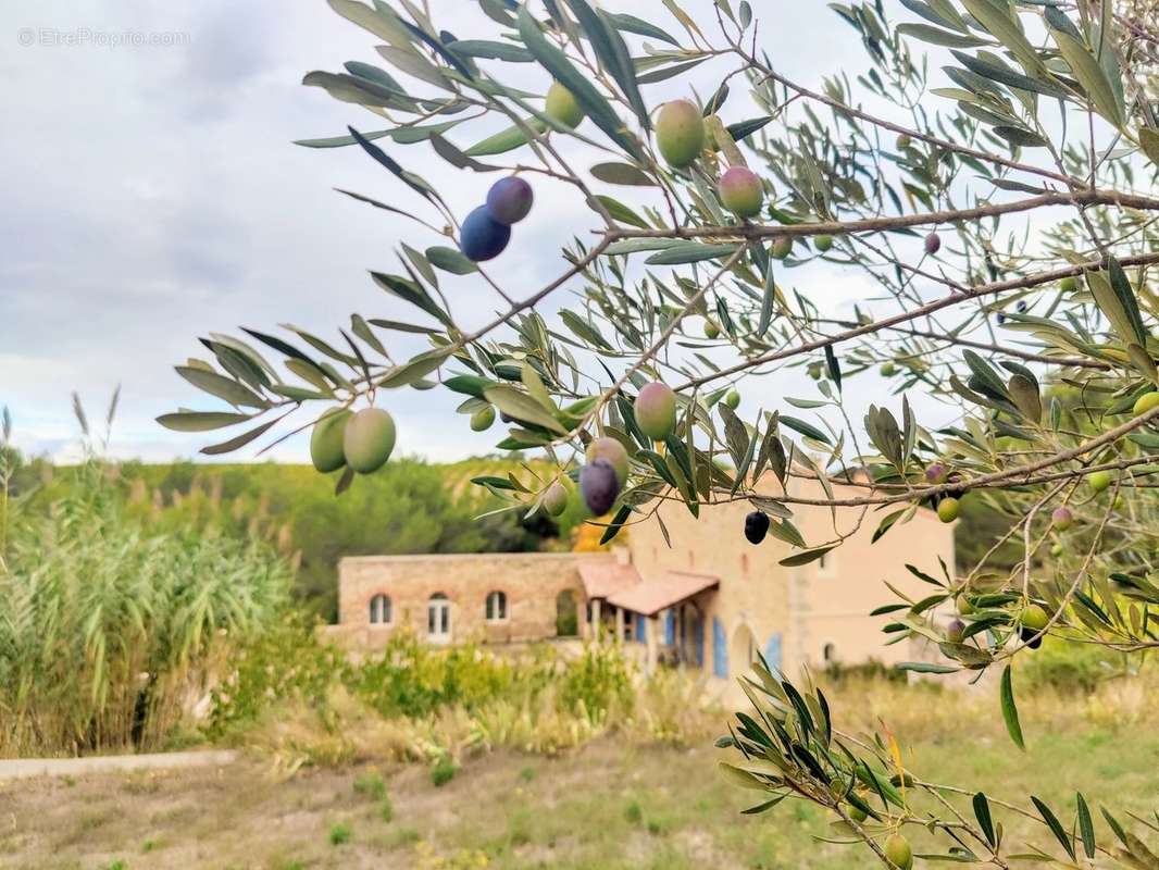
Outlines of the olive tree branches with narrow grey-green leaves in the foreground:
[{"label": "olive tree branches with narrow grey-green leaves in the foreground", "polygon": [[[867,67],[816,87],[761,51],[750,2],[715,0],[698,20],[664,0],[662,12],[648,9],[657,20],[644,21],[588,0],[480,0],[491,39],[455,38],[449,9],[440,20],[430,3],[330,6],[381,42],[391,70],[350,61],[305,84],[385,125],[301,144],[360,147],[402,186],[399,205],[349,195],[413,218],[425,237],[417,247],[399,242],[401,270],[371,273],[420,322],[356,314],[336,341],[293,328],[210,335],[209,358],[178,372],[231,409],[180,411],[163,425],[246,425],[206,448],[224,452],[286,426],[304,406],[384,396],[388,404],[395,391],[442,387],[465,397],[464,414],[497,407],[510,420],[497,448],[541,448],[564,478],[577,477],[593,437],[620,442],[630,474],[605,537],[649,521],[666,500],[693,514],[751,500],[774,519],[772,534],[801,549],[794,564],[841,539],[836,524],[831,539],[801,538],[797,505],[848,508],[888,534],[921,505],[981,500],[1014,520],[1005,539],[1016,556],[994,564],[984,553],[962,574],[947,566],[945,577],[923,578],[928,597],[880,612],[894,614],[894,639],[938,645],[942,661],[916,669],[997,668],[1020,745],[1009,661],[1043,635],[1138,655],[1159,645],[1150,483],[1159,407],[1140,403],[1159,384],[1159,123],[1147,71],[1157,27],[1139,3],[833,3]],[[661,159],[649,93],[709,68],[717,85],[698,101],[706,147],[691,164],[671,148]],[[539,102],[553,79],[583,110],[577,126]],[[460,172],[567,184],[592,227],[564,248],[554,280],[518,293],[459,253],[458,217],[404,168],[402,146],[414,145]],[[581,166],[577,153],[598,162]],[[722,203],[717,181],[729,165],[763,179],[764,206],[751,220]],[[603,193],[611,188],[626,193]],[[824,314],[822,290],[788,285],[816,260],[859,273],[874,298]],[[460,288],[493,291],[494,319],[460,325],[451,305]],[[578,300],[544,314],[563,289]],[[415,336],[425,341],[421,353],[395,358]],[[735,409],[736,386],[790,369],[809,374],[815,397]],[[874,372],[901,400],[852,420],[847,393]],[[662,443],[644,436],[633,407],[650,380],[677,393],[678,421]],[[1062,386],[1073,401],[1052,392]],[[958,416],[924,422],[911,390]],[[854,474],[861,470],[868,479]],[[758,498],[766,471],[780,492]],[[512,509],[534,510],[554,477],[534,487],[483,484]],[[796,478],[840,480],[860,494],[807,498]],[[338,488],[351,480],[342,474]],[[952,638],[940,615],[954,608],[967,623]],[[903,769],[891,735],[840,733],[821,691],[763,667],[745,688],[755,711],[738,715],[722,746],[737,752],[729,775],[764,792],[751,812],[788,797],[829,807],[838,835],[885,864],[909,848],[890,838],[920,824],[942,835],[943,861],[1159,865],[1110,811],[1101,810],[1107,829],[1096,829],[1081,793],[1072,824],[1033,797],[999,804],[925,783]],[[968,807],[950,800],[958,793]],[[1043,841],[1012,849],[1003,812],[1040,820]],[[1132,819],[1139,831],[1159,829]]]}]

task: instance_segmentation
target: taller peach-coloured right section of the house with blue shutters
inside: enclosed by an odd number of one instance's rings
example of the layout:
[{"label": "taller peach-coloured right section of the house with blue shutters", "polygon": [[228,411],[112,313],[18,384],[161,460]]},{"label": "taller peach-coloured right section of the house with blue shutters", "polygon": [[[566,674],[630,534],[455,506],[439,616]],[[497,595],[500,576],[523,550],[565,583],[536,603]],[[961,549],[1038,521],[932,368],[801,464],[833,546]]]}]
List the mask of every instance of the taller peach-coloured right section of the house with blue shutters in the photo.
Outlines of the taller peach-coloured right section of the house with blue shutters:
[{"label": "taller peach-coloured right section of the house with blue shutters", "polygon": [[[775,496],[779,484],[766,477],[760,492]],[[837,498],[863,492],[859,487],[833,487]],[[794,481],[793,494],[824,496],[819,485],[800,481]],[[698,618],[704,623],[699,645],[702,652],[686,660],[699,659],[709,674],[736,677],[749,669],[757,650],[788,674],[806,666],[824,667],[830,661],[859,664],[875,659],[896,664],[916,658],[909,643],[885,646],[881,628],[889,618],[868,614],[894,601],[885,581],[914,601],[930,593],[930,587],[905,568],[906,564],[941,577],[940,557],[953,571],[953,525],[943,524],[933,510],[919,508],[909,522],[895,525],[872,543],[877,524],[889,512],[839,508],[834,519],[828,507],[794,505],[793,522],[810,545],[832,541],[834,529],[847,537],[823,559],[783,567],[780,560],[796,552],[789,544],[772,535],[759,546],[744,539],[744,517],[750,510],[748,501],[716,505],[701,508],[698,520],[683,505],[668,503],[659,514],[671,549],[658,523],[632,527],[632,561],[642,577],[694,571],[720,578],[719,589],[684,606],[685,625]]]}]

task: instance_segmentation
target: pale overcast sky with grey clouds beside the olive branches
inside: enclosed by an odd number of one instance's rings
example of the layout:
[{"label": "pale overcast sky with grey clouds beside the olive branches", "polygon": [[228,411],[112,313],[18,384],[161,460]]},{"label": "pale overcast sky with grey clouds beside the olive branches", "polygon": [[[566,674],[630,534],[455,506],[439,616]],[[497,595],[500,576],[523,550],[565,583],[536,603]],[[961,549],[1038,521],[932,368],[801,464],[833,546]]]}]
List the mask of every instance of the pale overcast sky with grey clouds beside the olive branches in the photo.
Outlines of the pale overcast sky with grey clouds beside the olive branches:
[{"label": "pale overcast sky with grey clouds beside the olive branches", "polygon": [[[640,12],[637,2],[604,6]],[[649,6],[666,17],[658,2]],[[685,6],[712,20],[708,0]],[[761,29],[763,46],[779,68],[814,86],[843,58],[851,74],[860,71],[855,35],[823,2],[770,6],[778,14]],[[494,34],[474,2],[431,7],[460,38]],[[158,44],[114,44],[126,32]],[[437,240],[416,238],[411,226],[334,188],[400,204],[407,190],[356,148],[291,144],[340,135],[348,123],[380,126],[358,107],[300,85],[309,70],[379,61],[376,42],[321,0],[0,5],[0,405],[12,409],[20,447],[75,455],[70,393],[95,412],[121,383],[112,452],[190,457],[206,438],[169,433],[153,418],[202,401],[172,369],[199,354],[198,335],[293,322],[336,336],[350,312],[411,317],[366,270],[395,269],[400,239],[416,247]],[[704,94],[714,87],[681,82],[676,87],[699,85]],[[646,99],[666,99],[672,88],[651,87]],[[429,146],[388,148],[433,180],[460,216],[495,177],[460,173],[450,183],[452,171]],[[559,246],[591,226],[574,195],[540,186],[534,220],[518,229],[502,260],[504,282],[524,292],[546,283],[560,270]],[[869,291],[859,274],[832,267],[814,269],[808,281],[819,287],[802,289],[823,291],[833,309]],[[468,322],[494,310],[478,282],[450,290]],[[799,386],[758,389],[775,396]],[[885,397],[880,382],[867,386],[861,400]],[[495,433],[474,435],[451,420],[457,404],[445,391],[392,393],[401,450],[431,459],[487,451]],[[275,456],[301,459],[304,438]]]}]

